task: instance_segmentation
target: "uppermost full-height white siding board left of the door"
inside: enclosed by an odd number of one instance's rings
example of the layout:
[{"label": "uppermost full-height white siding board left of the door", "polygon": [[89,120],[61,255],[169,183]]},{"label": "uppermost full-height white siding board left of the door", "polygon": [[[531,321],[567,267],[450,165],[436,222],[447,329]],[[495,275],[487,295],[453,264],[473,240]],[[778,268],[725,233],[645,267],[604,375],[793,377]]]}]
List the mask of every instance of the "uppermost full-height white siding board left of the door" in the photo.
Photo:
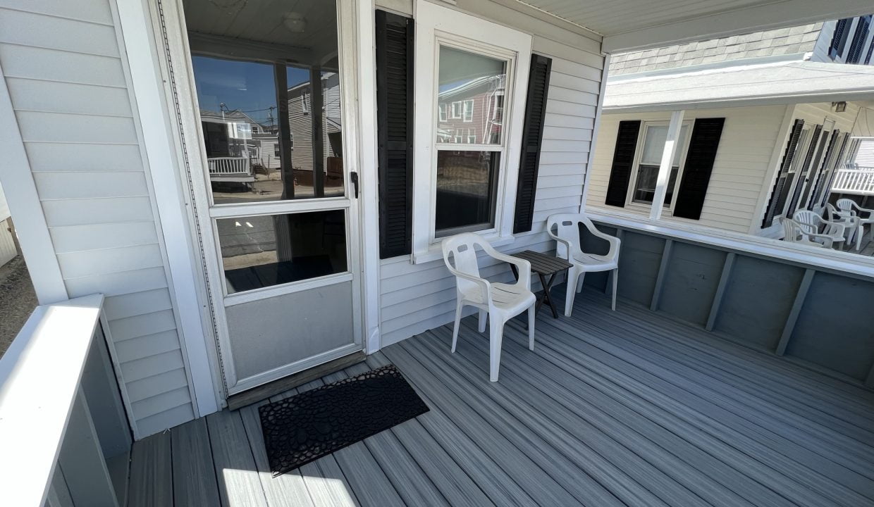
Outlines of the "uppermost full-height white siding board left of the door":
[{"label": "uppermost full-height white siding board left of the door", "polygon": [[0,9],[0,42],[118,56],[115,29],[63,17]]}]

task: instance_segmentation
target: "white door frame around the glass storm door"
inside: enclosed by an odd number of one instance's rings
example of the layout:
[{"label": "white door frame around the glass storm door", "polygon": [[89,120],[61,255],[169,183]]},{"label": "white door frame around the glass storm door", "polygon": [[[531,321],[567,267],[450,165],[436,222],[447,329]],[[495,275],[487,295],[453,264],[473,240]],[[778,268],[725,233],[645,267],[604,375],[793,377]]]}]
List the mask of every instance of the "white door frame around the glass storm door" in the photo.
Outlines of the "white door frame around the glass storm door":
[{"label": "white door frame around the glass storm door", "polygon": [[[222,360],[221,355],[230,351],[225,328],[224,307],[221,299],[215,297],[212,291],[222,285],[223,273],[220,271],[220,257],[213,235],[211,211],[208,206],[208,179],[192,177],[193,171],[205,170],[205,148],[200,132],[197,115],[197,93],[194,87],[194,75],[191,67],[191,50],[188,45],[184,22],[182,0],[158,0],[145,4],[144,11],[151,18],[151,31],[156,41],[152,54],[152,64],[161,72],[163,79],[164,103],[167,104],[172,116],[167,118],[164,129],[171,137],[176,152],[176,181],[163,181],[163,184],[178,188],[181,180],[182,188],[177,198],[177,208],[184,207],[191,234],[178,240],[191,245],[189,259],[193,271],[198,272],[194,281],[198,295],[199,306],[205,316],[205,334],[214,338],[207,348],[213,370],[213,381],[218,384],[220,398],[229,393],[239,392],[245,388],[255,387],[264,380],[251,378],[245,384],[238,383],[229,389],[225,379],[235,380],[232,363]],[[378,350],[378,216],[376,188],[376,112],[375,112],[375,56],[373,53],[373,2],[372,0],[343,0],[338,4],[338,30],[340,32],[340,66],[343,83],[343,123],[348,126],[343,132],[343,151],[348,154],[344,160],[345,188],[349,191],[350,173],[359,175],[359,198],[350,198],[348,207],[340,206],[347,212],[347,241],[350,257],[348,259],[351,275],[357,278],[358,287],[353,284],[353,299],[360,301],[360,310],[353,315],[353,326],[356,332],[356,344],[349,352],[364,349],[367,353]],[[146,20],[148,24],[148,19]],[[364,44],[366,42],[366,44]],[[168,63],[170,62],[170,63]],[[172,71],[170,72],[170,65]],[[361,90],[367,92],[359,93]],[[371,95],[373,95],[371,97]],[[359,103],[360,100],[360,103]],[[360,123],[359,123],[360,122]],[[372,135],[363,135],[370,132]],[[371,139],[372,137],[372,139]],[[369,184],[373,182],[373,184]],[[320,199],[319,205],[329,199]],[[316,202],[316,201],[314,201]],[[318,206],[318,205],[317,205]],[[362,212],[364,210],[364,213]],[[215,215],[216,209],[212,209]],[[162,214],[163,215],[163,214]],[[371,216],[372,215],[372,216]],[[364,234],[363,234],[364,233]],[[372,244],[371,244],[372,243]],[[373,258],[376,259],[374,262]],[[309,286],[312,282],[308,281]],[[317,283],[316,283],[317,284]],[[362,343],[362,340],[364,343]],[[318,361],[315,361],[318,364]],[[309,365],[309,366],[315,366]],[[305,367],[298,365],[298,367]],[[297,369],[297,367],[295,367]],[[193,374],[193,373],[192,373]],[[202,375],[203,373],[201,373]]]}]

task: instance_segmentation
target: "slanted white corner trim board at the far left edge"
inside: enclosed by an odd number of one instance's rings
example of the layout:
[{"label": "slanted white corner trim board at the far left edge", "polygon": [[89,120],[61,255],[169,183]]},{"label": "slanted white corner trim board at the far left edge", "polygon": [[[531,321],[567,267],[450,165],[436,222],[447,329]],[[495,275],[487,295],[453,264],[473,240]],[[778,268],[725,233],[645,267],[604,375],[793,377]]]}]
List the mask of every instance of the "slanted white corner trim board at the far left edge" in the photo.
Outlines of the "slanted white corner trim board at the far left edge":
[{"label": "slanted white corner trim board at the far left edge", "polygon": [[9,89],[0,66],[0,182],[6,188],[6,202],[15,215],[15,229],[24,259],[31,267],[31,283],[40,305],[64,301],[68,298],[64,277],[61,276],[58,257],[55,256],[52,236],[45,223],[37,185],[33,182],[31,163],[24,150],[24,141]]}]

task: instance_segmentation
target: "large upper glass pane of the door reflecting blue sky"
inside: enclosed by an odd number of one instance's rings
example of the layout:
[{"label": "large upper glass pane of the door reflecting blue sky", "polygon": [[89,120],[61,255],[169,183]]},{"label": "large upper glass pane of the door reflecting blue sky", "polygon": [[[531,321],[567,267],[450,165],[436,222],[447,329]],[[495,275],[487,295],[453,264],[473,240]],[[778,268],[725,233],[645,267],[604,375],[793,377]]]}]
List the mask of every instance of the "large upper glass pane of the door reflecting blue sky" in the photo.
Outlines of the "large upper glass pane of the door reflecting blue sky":
[{"label": "large upper glass pane of the door reflecting blue sky", "polygon": [[[195,53],[225,54],[227,44],[237,42],[274,48],[240,51],[249,61],[192,57],[213,201],[343,195],[335,3],[300,0],[295,12],[318,12],[306,18],[253,3],[240,7],[249,15],[219,24],[215,7],[184,4]],[[266,31],[253,16],[281,22]]]}]

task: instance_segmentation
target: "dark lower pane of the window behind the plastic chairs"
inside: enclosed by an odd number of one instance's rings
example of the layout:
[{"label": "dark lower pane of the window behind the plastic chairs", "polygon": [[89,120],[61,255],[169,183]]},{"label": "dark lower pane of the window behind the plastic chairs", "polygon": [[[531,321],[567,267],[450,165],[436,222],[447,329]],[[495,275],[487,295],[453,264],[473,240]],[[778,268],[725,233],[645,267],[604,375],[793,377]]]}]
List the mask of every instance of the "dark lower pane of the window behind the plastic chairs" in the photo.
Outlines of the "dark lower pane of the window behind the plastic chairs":
[{"label": "dark lower pane of the window behind the plastic chairs", "polygon": [[437,152],[436,236],[495,225],[498,152]]}]

